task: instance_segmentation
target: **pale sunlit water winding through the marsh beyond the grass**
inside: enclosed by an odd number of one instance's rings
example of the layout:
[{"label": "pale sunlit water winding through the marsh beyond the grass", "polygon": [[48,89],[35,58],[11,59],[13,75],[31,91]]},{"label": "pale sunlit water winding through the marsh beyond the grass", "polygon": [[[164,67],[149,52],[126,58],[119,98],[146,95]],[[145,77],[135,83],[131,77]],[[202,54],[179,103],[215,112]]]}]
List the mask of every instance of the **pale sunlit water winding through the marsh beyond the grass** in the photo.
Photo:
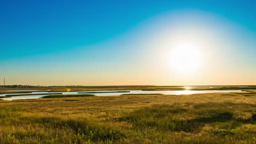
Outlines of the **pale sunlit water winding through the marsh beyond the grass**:
[{"label": "pale sunlit water winding through the marsh beyond the grass", "polygon": [[[114,90],[118,91],[118,90]],[[112,95],[121,95],[121,94],[151,94],[151,93],[161,93],[161,94],[173,94],[173,95],[181,95],[181,94],[198,94],[198,93],[225,93],[225,92],[241,92],[241,90],[206,90],[206,91],[189,91],[189,90],[183,90],[183,91],[141,91],[141,90],[124,90],[124,91],[130,91],[130,92],[114,92],[114,91],[90,91],[90,92],[113,92],[113,93],[92,93],[97,96],[112,96]],[[81,91],[81,92],[88,92],[88,91]],[[0,96],[5,96],[9,94],[42,94],[42,93],[52,93],[52,92],[32,92],[32,93],[8,93],[8,94],[0,94]],[[57,92],[59,93],[59,92]],[[63,94],[81,94],[78,92],[60,92]],[[49,95],[49,94],[45,94]],[[26,96],[16,96],[16,97],[10,97],[10,98],[1,98],[3,100],[18,100],[18,99],[38,99],[45,95],[26,95]]]}]

